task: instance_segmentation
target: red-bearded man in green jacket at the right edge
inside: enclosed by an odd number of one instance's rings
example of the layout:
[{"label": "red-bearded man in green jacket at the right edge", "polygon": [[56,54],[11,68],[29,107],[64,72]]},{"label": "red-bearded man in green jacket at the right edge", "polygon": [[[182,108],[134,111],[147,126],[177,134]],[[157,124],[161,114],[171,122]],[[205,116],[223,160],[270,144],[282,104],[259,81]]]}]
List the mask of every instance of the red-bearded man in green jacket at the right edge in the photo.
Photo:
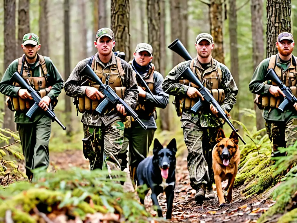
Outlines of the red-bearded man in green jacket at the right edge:
[{"label": "red-bearded man in green jacket at the right edge", "polygon": [[263,109],[262,116],[265,119],[265,127],[270,141],[272,142],[272,156],[284,156],[278,147],[294,145],[297,130],[297,104],[287,105],[284,112],[277,108],[283,101],[284,93],[281,89],[265,79],[269,69],[273,69],[279,79],[290,87],[297,96],[297,62],[293,56],[294,39],[288,32],[279,34],[276,42],[278,54],[264,59],[256,68],[249,90],[257,94],[255,103]]}]

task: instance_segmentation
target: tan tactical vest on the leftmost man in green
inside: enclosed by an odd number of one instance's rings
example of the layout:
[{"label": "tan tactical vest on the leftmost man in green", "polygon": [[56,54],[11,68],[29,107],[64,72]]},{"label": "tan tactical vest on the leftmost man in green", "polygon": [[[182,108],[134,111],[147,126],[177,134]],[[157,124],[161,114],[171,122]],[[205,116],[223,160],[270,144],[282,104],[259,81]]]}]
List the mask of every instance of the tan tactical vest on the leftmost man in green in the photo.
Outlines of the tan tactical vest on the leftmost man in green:
[{"label": "tan tactical vest on the leftmost man in green", "polygon": [[[28,70],[28,66],[25,66],[25,54],[18,58],[18,73],[27,81],[27,83],[34,88],[37,93],[43,98],[50,92],[51,86],[49,86],[47,76],[48,70],[46,68],[45,59],[42,55],[38,54],[39,58],[39,77],[32,77],[32,70]],[[12,84],[15,87],[20,87],[16,82]],[[32,100],[22,99],[20,97],[9,97],[7,98],[7,106],[12,111],[25,111],[32,106]],[[53,106],[55,106],[57,100],[53,101]]]}]

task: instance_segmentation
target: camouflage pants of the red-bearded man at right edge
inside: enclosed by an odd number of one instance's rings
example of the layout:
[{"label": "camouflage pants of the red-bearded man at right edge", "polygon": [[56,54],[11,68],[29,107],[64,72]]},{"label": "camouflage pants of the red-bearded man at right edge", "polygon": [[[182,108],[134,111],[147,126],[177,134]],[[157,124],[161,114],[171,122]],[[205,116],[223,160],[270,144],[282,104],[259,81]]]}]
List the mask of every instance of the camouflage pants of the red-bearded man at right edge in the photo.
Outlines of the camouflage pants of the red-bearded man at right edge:
[{"label": "camouflage pants of the red-bearded man at right edge", "polygon": [[285,154],[278,151],[278,147],[294,145],[297,133],[297,118],[292,118],[287,122],[266,120],[265,127],[272,142],[272,156],[284,156]]}]

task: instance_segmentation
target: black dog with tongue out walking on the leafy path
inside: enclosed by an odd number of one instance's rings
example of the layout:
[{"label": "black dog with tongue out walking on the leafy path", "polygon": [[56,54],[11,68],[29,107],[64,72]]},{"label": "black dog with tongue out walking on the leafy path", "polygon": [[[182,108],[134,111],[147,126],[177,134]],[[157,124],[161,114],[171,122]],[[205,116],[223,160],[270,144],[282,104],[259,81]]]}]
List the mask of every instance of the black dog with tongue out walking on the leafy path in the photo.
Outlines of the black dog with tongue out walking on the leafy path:
[{"label": "black dog with tongue out walking on the leafy path", "polygon": [[[151,189],[151,200],[157,206],[158,216],[162,217],[162,210],[159,205],[157,196],[165,191],[166,194],[166,219],[171,219],[172,204],[175,188],[175,166],[176,166],[176,140],[172,139],[163,148],[158,139],[154,141],[153,154],[145,158],[137,167],[138,185],[146,184]],[[145,195],[149,190],[145,191]],[[144,198],[144,197],[143,197]],[[140,198],[140,202],[144,204],[144,200]]]}]

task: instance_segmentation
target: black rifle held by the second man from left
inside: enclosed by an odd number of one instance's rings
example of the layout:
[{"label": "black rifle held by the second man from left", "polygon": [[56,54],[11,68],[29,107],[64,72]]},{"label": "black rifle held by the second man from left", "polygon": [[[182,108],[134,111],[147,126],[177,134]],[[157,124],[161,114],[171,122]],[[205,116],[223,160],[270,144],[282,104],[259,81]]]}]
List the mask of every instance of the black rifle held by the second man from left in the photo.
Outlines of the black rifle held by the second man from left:
[{"label": "black rifle held by the second man from left", "polygon": [[138,121],[138,123],[144,129],[147,128],[147,126],[138,118],[138,115],[133,111],[133,109],[123,99],[121,99],[109,85],[102,83],[100,78],[88,64],[83,68],[82,71],[80,71],[80,73],[83,74],[82,76],[86,76],[88,79],[96,82],[96,84],[99,84],[99,91],[101,91],[102,94],[105,95],[105,97],[101,100],[101,102],[95,109],[99,114],[103,113],[109,103],[112,103],[115,107],[117,104],[121,104],[124,106],[125,111],[129,116],[132,116],[134,120]]}]

